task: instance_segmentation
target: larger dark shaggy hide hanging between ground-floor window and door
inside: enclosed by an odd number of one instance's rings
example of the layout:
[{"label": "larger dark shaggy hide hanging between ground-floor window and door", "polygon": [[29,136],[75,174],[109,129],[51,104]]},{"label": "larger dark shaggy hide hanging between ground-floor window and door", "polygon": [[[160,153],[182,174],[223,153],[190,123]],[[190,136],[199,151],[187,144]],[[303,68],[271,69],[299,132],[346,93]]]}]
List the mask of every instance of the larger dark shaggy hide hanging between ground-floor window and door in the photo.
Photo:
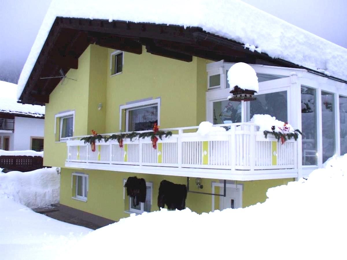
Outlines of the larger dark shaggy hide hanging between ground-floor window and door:
[{"label": "larger dark shaggy hide hanging between ground-floor window and door", "polygon": [[168,209],[185,209],[187,198],[187,186],[162,180],[159,186],[158,207]]}]

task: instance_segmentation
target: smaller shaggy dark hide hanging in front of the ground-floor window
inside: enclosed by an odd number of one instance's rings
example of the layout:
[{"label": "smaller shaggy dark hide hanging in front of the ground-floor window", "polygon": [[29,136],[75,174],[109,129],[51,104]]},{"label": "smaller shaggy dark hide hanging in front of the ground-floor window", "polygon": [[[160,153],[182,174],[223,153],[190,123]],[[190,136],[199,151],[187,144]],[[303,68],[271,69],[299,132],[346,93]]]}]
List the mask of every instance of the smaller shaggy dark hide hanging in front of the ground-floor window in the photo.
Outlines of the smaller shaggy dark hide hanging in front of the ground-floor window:
[{"label": "smaller shaggy dark hide hanging in front of the ground-floor window", "polygon": [[124,185],[127,188],[127,195],[133,199],[133,205],[138,206],[140,202],[146,201],[146,181],[136,176],[129,177]]}]

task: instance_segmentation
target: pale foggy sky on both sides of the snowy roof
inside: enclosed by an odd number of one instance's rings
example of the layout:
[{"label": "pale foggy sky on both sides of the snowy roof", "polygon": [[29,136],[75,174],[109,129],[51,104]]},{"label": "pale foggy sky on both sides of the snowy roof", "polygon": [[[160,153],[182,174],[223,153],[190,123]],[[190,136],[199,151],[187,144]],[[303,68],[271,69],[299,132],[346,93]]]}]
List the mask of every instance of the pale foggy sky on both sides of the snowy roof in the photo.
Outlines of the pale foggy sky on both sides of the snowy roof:
[{"label": "pale foggy sky on both sides of the snowy roof", "polygon": [[[243,1],[347,48],[346,0]],[[0,0],[0,80],[17,83],[50,2]]]}]

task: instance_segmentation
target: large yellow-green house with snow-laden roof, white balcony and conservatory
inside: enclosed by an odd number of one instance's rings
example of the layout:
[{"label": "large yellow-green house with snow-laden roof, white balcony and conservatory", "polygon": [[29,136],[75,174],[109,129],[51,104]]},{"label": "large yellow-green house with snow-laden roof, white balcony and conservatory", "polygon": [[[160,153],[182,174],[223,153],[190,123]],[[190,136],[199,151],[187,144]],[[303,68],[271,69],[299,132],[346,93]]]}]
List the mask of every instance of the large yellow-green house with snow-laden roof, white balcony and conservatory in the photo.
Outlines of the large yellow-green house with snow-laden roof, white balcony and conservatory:
[{"label": "large yellow-green house with snow-laden roof, white balcony and conservatory", "polygon": [[[61,167],[62,209],[98,224],[158,210],[163,180],[187,184],[198,213],[247,207],[346,153],[346,49],[241,1],[167,5],[52,2],[18,99],[46,105],[44,165]],[[228,101],[236,62],[256,71],[256,101]],[[247,123],[254,114],[302,137],[265,138]],[[233,124],[201,136],[202,121]],[[153,143],[154,123],[171,137]],[[146,184],[138,205],[124,188],[131,176]]]}]

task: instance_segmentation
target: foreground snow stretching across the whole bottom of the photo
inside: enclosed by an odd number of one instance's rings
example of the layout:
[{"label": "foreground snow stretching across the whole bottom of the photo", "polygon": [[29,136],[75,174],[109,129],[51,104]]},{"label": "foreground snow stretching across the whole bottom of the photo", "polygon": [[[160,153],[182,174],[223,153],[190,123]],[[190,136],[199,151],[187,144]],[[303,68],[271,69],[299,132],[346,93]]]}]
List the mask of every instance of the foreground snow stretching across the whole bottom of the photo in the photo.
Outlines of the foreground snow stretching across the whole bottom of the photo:
[{"label": "foreground snow stretching across the whole bottom of the photo", "polygon": [[89,234],[0,196],[0,259],[345,259],[346,166],[332,157],[251,207],[132,214]]}]

